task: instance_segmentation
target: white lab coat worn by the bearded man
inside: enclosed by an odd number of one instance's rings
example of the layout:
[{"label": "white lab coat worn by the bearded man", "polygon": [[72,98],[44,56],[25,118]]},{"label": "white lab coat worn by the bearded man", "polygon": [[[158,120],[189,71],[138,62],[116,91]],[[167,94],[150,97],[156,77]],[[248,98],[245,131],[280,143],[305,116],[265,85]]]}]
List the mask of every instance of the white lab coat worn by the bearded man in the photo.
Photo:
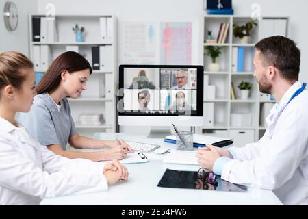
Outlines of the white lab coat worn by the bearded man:
[{"label": "white lab coat worn by the bearded man", "polygon": [[[222,179],[273,190],[285,205],[308,204],[308,91],[297,81],[274,105],[264,136],[243,148],[222,169]],[[283,110],[283,108],[285,109]]]}]

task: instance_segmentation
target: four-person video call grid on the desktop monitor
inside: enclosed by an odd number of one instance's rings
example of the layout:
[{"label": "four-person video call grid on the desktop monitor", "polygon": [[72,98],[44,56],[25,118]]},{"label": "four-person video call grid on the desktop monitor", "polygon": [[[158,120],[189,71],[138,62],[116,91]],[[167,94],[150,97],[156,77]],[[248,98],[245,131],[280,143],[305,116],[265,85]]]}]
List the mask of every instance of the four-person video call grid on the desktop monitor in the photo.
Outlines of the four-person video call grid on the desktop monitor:
[{"label": "four-person video call grid on the desktop monitor", "polygon": [[197,114],[198,66],[138,66],[122,70],[123,114]]}]

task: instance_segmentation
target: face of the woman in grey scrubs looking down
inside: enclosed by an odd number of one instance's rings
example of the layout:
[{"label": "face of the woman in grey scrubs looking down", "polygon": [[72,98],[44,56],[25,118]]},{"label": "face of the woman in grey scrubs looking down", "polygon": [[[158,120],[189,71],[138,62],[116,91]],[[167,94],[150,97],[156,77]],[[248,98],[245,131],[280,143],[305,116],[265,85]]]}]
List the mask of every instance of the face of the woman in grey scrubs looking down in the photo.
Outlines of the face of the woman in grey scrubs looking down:
[{"label": "face of the woman in grey scrubs looking down", "polygon": [[65,75],[62,75],[64,81],[64,90],[73,99],[77,99],[84,90],[87,90],[87,80],[90,76],[90,70],[78,70],[73,73],[66,71]]}]

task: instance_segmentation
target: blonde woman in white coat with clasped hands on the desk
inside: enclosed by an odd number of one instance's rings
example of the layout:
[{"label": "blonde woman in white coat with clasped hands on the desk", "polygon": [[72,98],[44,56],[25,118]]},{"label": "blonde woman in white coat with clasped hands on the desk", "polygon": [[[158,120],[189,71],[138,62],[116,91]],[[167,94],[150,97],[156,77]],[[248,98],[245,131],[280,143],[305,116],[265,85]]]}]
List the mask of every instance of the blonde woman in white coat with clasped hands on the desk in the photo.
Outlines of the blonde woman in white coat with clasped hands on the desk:
[{"label": "blonde woman in white coat with clasped hands on the desk", "polygon": [[118,161],[103,169],[88,159],[55,155],[14,120],[32,105],[34,68],[18,52],[0,54],[0,205],[36,205],[42,198],[101,192],[128,172]]}]

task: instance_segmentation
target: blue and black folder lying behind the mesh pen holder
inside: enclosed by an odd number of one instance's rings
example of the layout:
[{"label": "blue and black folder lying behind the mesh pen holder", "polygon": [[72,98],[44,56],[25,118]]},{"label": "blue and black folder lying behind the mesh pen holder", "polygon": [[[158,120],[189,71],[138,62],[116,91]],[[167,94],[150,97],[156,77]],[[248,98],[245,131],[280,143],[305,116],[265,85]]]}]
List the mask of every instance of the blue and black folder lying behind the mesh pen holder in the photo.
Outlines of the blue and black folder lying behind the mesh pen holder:
[{"label": "blue and black folder lying behind the mesh pen holder", "polygon": [[[227,146],[233,143],[231,139],[219,138],[214,136],[193,135],[194,147],[204,147],[205,144],[212,144],[214,146]],[[166,136],[164,142],[175,144],[176,136]]]}]

